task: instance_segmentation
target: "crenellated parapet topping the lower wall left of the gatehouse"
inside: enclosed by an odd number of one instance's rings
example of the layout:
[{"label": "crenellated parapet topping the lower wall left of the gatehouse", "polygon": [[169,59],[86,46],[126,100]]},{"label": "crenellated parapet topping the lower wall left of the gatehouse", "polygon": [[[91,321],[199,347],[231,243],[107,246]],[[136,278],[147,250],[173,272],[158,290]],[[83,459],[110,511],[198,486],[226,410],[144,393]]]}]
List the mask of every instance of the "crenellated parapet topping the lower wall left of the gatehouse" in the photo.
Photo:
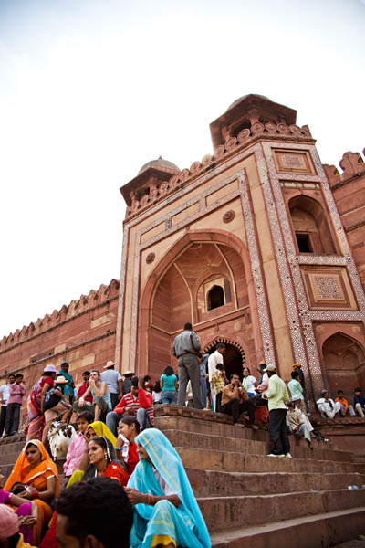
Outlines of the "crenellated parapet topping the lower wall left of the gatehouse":
[{"label": "crenellated parapet topping the lower wall left of the gatehouse", "polygon": [[68,306],[65,304],[58,311],[55,310],[51,314],[46,314],[43,319],[38,318],[35,323],[32,321],[21,330],[17,329],[16,332],[4,336],[0,341],[0,353],[9,350],[19,342],[26,342],[65,321],[70,321],[76,316],[107,304],[110,300],[118,299],[119,287],[120,282],[117,279],[112,279],[109,285],[102,284],[99,290],[90,290],[89,295],[81,295],[78,300],[71,300]]}]

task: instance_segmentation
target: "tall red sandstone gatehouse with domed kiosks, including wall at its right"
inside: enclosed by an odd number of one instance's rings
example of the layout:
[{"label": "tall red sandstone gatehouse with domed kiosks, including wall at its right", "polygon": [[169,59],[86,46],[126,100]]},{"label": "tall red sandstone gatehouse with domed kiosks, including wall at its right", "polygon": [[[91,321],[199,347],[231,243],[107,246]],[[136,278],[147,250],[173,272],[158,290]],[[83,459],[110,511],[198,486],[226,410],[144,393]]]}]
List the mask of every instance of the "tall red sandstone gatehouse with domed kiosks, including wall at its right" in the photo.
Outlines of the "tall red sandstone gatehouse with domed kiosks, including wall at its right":
[{"label": "tall red sandstone gatehouse with domed kiosks, including wall at its right", "polygon": [[300,362],[316,398],[365,387],[364,164],[323,166],[296,118],[246,95],[211,123],[214,155],[183,171],[159,158],[121,187],[120,370],[176,367],[192,321],[204,351],[227,344],[227,373],[264,359],[289,379]]}]

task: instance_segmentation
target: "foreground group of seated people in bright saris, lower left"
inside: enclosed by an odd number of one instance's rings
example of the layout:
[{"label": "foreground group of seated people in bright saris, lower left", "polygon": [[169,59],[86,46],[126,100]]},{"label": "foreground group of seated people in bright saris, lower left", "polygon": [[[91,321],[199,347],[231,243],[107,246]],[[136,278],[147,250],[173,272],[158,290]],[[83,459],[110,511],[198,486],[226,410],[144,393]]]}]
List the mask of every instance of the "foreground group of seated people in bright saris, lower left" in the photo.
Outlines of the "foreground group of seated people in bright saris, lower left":
[{"label": "foreground group of seated people in bright saris, lower left", "polygon": [[89,422],[88,413],[78,415],[63,488],[42,441],[26,441],[0,489],[0,544],[111,548],[118,539],[121,548],[209,548],[203,515],[168,438],[127,414],[114,437],[105,423]]}]

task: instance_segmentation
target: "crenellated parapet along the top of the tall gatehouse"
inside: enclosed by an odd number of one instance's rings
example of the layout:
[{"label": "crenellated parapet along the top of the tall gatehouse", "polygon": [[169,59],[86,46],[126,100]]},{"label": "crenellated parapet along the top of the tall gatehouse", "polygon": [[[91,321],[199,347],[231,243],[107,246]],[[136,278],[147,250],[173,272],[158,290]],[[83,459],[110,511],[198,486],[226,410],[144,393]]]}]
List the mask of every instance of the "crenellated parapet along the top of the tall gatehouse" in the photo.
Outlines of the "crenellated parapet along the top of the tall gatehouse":
[{"label": "crenellated parapet along the top of the tall gatehouse", "polygon": [[[181,171],[177,168],[169,176],[167,176],[167,170],[163,170],[164,173],[162,173],[158,161],[155,164],[151,163],[151,173],[144,172],[143,175],[146,174],[146,176],[143,181],[141,181],[141,174],[139,174],[129,184],[120,189],[127,203],[126,219],[130,220],[130,218],[139,215],[151,205],[191,183],[193,179],[213,168],[217,163],[225,162],[229,156],[250,146],[257,140],[269,139],[275,141],[277,139],[280,142],[315,142],[308,125],[299,127],[295,124],[276,124],[270,121],[267,123],[255,121],[250,128],[245,128],[236,135],[232,134],[231,129],[230,132],[224,133],[224,139],[223,144],[217,144],[214,147],[214,154],[206,154],[201,162],[193,162],[190,168]],[[148,174],[150,174],[149,177]],[[165,176],[161,177],[162,174]]]}]

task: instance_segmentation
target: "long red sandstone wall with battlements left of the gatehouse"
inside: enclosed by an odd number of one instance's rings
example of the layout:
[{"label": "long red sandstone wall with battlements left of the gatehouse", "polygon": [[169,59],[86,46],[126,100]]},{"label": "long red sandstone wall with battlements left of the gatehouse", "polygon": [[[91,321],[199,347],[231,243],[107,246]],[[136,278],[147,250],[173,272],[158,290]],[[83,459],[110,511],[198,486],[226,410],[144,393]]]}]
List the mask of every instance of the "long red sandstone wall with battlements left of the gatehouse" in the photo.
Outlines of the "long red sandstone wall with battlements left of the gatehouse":
[{"label": "long red sandstone wall with battlements left of the gatehouse", "polygon": [[85,370],[114,359],[119,282],[91,290],[42,320],[16,330],[0,342],[0,383],[22,373],[29,394],[47,364],[69,362],[75,382]]}]

